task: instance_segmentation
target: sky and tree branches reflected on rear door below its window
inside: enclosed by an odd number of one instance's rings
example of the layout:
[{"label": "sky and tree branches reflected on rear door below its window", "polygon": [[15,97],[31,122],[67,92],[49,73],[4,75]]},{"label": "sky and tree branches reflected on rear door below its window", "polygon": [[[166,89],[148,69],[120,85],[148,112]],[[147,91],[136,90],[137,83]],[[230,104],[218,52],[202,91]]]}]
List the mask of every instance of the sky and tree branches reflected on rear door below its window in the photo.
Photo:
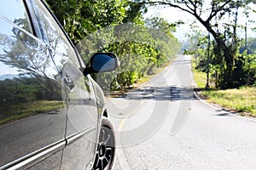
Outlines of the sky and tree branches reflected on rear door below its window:
[{"label": "sky and tree branches reflected on rear door below its window", "polygon": [[37,78],[40,81],[44,77],[55,81],[58,71],[43,43],[1,18],[0,30],[0,82],[18,77]]}]

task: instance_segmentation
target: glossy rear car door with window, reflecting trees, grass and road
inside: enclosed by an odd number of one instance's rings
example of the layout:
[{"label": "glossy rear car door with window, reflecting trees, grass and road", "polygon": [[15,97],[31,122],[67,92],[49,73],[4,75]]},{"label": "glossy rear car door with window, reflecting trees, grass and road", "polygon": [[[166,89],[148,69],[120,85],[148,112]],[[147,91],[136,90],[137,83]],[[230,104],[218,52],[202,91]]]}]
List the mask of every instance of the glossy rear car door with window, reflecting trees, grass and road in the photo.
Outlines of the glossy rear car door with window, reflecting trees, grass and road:
[{"label": "glossy rear car door with window, reflecting trees, grass and road", "polygon": [[59,169],[67,110],[30,3],[0,5],[0,169]]}]

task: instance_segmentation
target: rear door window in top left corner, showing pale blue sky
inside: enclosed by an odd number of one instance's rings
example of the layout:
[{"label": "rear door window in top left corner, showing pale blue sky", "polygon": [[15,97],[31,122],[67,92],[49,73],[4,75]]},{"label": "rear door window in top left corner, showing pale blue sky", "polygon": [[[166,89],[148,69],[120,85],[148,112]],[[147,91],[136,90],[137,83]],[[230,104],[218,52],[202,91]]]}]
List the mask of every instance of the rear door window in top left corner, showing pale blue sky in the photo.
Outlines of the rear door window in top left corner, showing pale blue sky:
[{"label": "rear door window in top left corner, showing pale blue sky", "polygon": [[[9,9],[12,10],[9,10]],[[15,23],[15,25],[20,26],[32,33],[32,26],[29,21],[28,14],[26,13],[26,8],[21,0],[8,0],[1,1],[0,5],[0,15],[4,18]]]}]

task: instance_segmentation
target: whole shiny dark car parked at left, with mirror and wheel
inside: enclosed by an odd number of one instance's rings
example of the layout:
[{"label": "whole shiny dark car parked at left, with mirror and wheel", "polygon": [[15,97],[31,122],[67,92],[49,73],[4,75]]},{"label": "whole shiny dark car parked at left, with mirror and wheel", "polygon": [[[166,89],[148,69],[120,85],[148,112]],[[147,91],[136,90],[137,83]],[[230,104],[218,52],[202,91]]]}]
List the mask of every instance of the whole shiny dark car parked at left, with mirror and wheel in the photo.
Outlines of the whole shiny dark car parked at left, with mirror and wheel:
[{"label": "whole shiny dark car parked at left, with mirror and wheel", "polygon": [[44,1],[0,5],[0,169],[110,169],[115,153],[104,94]]}]

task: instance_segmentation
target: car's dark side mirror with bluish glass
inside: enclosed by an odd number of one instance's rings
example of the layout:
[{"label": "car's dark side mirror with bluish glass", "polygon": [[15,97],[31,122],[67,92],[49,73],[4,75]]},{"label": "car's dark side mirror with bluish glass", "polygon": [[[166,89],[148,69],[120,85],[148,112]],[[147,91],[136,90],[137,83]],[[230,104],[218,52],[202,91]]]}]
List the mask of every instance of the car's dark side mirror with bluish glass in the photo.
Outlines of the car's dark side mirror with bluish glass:
[{"label": "car's dark side mirror with bluish glass", "polygon": [[90,58],[90,67],[84,69],[84,76],[90,73],[113,71],[119,66],[119,59],[113,53],[96,53]]}]

